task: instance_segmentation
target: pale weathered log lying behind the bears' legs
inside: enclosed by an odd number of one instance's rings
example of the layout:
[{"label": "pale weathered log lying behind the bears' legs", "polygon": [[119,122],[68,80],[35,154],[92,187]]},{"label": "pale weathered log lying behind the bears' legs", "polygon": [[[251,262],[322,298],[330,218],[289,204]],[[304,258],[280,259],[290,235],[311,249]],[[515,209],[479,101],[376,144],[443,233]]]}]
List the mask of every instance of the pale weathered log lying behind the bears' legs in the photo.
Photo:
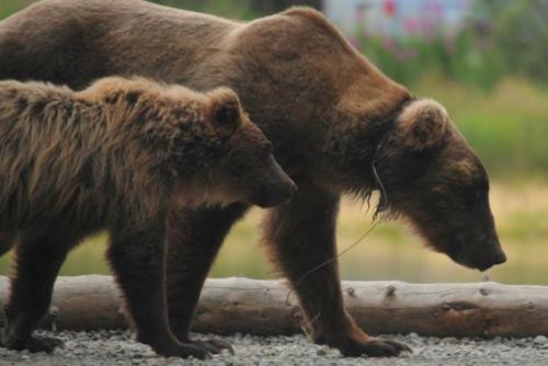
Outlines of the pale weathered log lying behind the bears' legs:
[{"label": "pale weathered log lying behind the bears' legs", "polygon": [[[369,333],[436,336],[548,335],[548,287],[496,283],[344,282],[349,312]],[[8,281],[0,276],[0,302]],[[319,314],[328,316],[328,314]],[[126,327],[110,276],[60,277],[43,327],[69,330]],[[292,334],[306,329],[294,293],[281,281],[208,279],[194,331]]]}]

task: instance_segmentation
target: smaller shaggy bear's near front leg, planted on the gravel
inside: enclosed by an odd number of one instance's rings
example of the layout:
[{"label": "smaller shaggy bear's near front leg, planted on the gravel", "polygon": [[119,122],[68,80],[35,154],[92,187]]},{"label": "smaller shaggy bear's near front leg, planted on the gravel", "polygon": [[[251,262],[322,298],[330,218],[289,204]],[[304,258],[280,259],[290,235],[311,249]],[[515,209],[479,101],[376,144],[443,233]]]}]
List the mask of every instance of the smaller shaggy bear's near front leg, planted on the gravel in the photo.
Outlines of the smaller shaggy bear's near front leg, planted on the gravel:
[{"label": "smaller shaggy bear's near front leg, planted on the gravel", "polygon": [[164,220],[111,232],[107,258],[126,299],[139,342],[167,357],[207,358],[204,347],[179,342],[171,333],[164,294]]}]

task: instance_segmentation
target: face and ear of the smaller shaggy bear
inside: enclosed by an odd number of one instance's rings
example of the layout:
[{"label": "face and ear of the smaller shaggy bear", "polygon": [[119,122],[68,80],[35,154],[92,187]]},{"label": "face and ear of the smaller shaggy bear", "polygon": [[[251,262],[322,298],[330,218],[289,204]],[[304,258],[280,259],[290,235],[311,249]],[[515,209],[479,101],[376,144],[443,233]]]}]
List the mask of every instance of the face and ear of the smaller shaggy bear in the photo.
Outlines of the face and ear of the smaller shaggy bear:
[{"label": "face and ear of the smaller shaggy bear", "polygon": [[215,167],[215,179],[228,196],[260,207],[288,201],[297,186],[282,170],[272,145],[242,111],[237,95],[226,89],[214,91],[212,121],[228,134],[224,156]]}]

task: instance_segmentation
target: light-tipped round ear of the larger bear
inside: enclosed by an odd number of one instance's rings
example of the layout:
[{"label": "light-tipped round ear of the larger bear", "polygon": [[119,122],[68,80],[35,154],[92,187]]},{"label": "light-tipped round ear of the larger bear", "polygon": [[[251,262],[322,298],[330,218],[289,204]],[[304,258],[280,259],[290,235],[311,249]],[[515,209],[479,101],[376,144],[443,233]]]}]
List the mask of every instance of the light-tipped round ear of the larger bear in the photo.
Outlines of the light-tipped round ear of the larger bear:
[{"label": "light-tipped round ear of the larger bear", "polygon": [[403,146],[423,150],[442,145],[449,128],[445,108],[433,100],[414,101],[398,117],[398,129]]}]

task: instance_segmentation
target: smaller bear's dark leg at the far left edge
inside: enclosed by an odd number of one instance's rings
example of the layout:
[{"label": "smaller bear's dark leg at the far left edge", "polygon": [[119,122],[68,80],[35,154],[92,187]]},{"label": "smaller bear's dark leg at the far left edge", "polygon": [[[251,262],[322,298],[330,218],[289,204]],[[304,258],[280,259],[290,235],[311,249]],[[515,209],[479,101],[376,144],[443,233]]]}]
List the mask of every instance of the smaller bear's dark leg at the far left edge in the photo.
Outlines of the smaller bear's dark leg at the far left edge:
[{"label": "smaller bear's dark leg at the far left edge", "polygon": [[15,247],[2,346],[49,353],[62,345],[57,339],[37,338],[32,333],[49,307],[55,278],[71,245],[66,238],[46,235],[23,238]]}]

